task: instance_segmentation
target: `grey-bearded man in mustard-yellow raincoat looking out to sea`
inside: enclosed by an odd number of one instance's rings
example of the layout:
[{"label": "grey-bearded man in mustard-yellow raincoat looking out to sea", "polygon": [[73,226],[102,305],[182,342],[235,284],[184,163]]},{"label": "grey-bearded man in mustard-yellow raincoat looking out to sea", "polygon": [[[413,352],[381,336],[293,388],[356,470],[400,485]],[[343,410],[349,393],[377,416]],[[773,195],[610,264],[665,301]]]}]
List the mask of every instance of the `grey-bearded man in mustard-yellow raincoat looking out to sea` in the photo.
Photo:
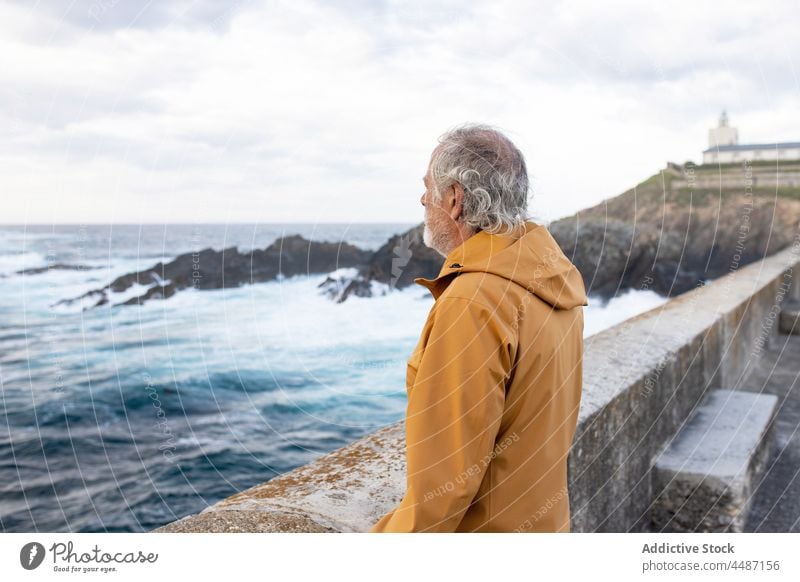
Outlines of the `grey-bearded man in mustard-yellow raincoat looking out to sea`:
[{"label": "grey-bearded man in mustard-yellow raincoat looking out to sea", "polygon": [[583,279],[526,217],[517,147],[484,125],[439,139],[424,242],[445,257],[406,370],[406,492],[373,532],[567,532]]}]

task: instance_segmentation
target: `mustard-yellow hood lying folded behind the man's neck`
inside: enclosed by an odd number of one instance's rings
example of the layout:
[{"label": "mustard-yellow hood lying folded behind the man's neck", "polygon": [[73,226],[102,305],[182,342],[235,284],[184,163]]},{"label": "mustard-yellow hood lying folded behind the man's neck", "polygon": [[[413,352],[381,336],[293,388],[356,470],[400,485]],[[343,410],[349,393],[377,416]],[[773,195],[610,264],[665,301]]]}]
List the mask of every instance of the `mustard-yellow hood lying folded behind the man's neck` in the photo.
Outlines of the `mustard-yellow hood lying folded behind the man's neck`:
[{"label": "mustard-yellow hood lying folded behind the man's neck", "polygon": [[460,273],[492,273],[513,281],[556,309],[589,305],[583,277],[543,225],[525,223],[520,237],[479,231],[453,249],[434,279],[414,282],[434,298]]}]

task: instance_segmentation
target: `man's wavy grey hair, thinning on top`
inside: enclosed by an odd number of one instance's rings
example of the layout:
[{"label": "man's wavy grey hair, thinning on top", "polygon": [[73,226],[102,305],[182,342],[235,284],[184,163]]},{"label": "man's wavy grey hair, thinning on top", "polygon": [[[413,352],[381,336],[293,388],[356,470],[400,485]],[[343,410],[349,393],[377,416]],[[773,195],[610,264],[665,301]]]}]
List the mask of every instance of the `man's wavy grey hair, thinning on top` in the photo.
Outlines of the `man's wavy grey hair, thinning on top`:
[{"label": "man's wavy grey hair, thinning on top", "polygon": [[527,220],[528,171],[522,152],[497,129],[465,124],[439,137],[431,156],[433,194],[464,189],[462,220],[476,230],[510,234]]}]

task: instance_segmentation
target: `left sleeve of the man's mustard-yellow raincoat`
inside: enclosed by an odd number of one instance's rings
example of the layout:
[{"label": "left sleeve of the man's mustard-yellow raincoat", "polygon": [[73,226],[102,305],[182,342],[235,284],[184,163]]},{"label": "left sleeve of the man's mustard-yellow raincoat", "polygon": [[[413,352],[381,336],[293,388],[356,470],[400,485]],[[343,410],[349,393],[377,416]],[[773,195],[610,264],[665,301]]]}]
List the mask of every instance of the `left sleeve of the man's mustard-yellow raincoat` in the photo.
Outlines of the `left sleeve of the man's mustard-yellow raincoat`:
[{"label": "left sleeve of the man's mustard-yellow raincoat", "polygon": [[492,459],[512,340],[494,310],[442,297],[409,389],[406,493],[371,532],[452,532]]}]

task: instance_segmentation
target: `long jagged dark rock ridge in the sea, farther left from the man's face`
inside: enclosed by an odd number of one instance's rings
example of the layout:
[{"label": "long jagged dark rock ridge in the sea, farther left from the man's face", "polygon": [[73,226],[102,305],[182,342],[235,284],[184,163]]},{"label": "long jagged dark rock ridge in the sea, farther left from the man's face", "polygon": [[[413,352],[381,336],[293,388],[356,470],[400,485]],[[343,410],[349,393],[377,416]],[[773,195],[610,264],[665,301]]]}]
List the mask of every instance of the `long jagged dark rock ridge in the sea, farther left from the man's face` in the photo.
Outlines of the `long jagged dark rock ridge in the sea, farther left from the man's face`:
[{"label": "long jagged dark rock ridge in the sea, farther left from the man's face", "polygon": [[347,243],[314,242],[299,235],[276,240],[266,249],[240,253],[236,247],[222,251],[204,249],[186,253],[169,263],[161,263],[117,277],[100,289],[59,303],[98,296],[95,307],[113,299],[113,293],[143,285],[147,290],[121,305],[140,305],[149,299],[166,299],[176,292],[196,289],[226,289],[248,283],[271,281],[279,276],[291,277],[304,273],[325,273],[342,267],[363,265],[371,253]]}]

